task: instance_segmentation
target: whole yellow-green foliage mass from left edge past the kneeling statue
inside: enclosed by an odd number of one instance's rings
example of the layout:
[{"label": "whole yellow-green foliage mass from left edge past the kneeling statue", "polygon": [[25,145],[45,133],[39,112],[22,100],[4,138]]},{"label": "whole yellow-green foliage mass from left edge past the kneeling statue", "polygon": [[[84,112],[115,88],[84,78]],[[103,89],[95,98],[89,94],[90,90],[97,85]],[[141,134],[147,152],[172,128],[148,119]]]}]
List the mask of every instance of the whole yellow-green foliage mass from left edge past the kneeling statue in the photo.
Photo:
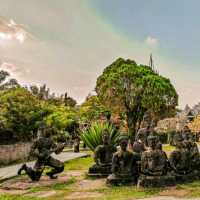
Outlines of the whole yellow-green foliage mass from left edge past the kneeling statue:
[{"label": "whole yellow-green foliage mass from left edge past the kneeling statue", "polygon": [[30,141],[36,137],[41,121],[53,128],[56,139],[66,140],[71,127],[77,124],[74,108],[41,100],[26,88],[4,89],[0,93],[1,143]]}]

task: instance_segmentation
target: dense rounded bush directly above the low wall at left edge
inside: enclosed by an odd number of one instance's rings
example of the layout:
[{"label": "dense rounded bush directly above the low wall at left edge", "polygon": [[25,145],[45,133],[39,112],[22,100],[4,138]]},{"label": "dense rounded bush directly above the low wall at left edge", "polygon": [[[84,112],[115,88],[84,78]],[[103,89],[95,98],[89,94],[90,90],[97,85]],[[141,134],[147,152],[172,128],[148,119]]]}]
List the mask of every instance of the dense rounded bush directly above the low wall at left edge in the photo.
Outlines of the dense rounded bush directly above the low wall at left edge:
[{"label": "dense rounded bush directly above the low wall at left edge", "polygon": [[38,99],[20,87],[1,91],[0,105],[0,137],[9,142],[31,139],[47,114]]}]

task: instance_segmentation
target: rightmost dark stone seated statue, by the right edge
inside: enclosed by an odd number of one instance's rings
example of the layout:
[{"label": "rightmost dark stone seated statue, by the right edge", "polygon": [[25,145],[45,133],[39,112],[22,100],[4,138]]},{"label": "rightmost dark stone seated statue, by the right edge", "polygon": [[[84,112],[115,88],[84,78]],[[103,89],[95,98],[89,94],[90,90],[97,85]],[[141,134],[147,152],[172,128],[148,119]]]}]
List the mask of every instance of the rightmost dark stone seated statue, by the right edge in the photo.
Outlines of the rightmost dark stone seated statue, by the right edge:
[{"label": "rightmost dark stone seated statue, by the right edge", "polygon": [[176,149],[171,153],[169,161],[176,181],[182,183],[197,179],[196,162],[199,159],[199,154],[192,151],[190,141],[186,137],[183,138],[182,134],[175,136],[175,146]]}]

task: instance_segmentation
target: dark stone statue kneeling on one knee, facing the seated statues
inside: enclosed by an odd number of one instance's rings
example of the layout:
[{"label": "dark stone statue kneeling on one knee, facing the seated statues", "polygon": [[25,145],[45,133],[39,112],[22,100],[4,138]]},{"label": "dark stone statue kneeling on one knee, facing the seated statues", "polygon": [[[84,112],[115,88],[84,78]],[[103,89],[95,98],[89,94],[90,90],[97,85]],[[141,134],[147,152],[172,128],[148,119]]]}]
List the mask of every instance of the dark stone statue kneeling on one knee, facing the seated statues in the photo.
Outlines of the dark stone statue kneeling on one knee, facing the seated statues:
[{"label": "dark stone statue kneeling on one knee, facing the seated statues", "polygon": [[64,144],[56,145],[50,137],[50,133],[50,129],[42,127],[41,135],[34,142],[30,152],[30,155],[37,159],[34,167],[28,167],[26,164],[23,164],[18,170],[18,175],[25,171],[32,181],[39,181],[45,166],[53,168],[46,173],[51,179],[57,178],[56,174],[64,170],[64,163],[51,156],[52,153],[61,153],[64,149]]}]

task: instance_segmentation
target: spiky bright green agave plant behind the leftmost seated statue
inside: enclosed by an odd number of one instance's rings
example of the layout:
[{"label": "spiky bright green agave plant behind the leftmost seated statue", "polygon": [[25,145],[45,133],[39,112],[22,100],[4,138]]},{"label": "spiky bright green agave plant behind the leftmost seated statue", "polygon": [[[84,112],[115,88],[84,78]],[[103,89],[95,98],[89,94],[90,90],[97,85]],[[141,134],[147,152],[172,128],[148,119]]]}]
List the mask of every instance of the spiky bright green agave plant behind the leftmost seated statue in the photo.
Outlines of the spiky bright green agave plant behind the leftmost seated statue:
[{"label": "spiky bright green agave plant behind the leftmost seated statue", "polygon": [[84,131],[81,134],[81,139],[92,151],[94,151],[98,145],[101,145],[103,143],[102,133],[105,129],[108,130],[108,133],[110,135],[111,145],[116,146],[120,133],[112,124],[107,122],[93,123],[88,130]]}]

